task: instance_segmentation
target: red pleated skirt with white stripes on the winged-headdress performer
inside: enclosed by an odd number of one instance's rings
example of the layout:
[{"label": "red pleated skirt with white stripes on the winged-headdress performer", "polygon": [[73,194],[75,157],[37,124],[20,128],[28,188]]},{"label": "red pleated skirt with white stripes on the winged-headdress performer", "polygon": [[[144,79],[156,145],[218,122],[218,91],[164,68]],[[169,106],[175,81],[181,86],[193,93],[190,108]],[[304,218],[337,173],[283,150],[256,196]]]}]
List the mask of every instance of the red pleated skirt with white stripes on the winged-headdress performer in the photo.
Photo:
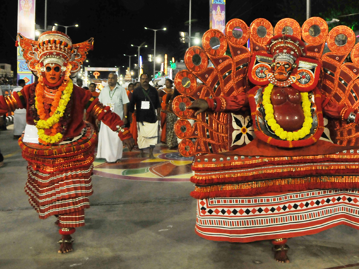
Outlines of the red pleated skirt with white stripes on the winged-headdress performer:
[{"label": "red pleated skirt with white stripes on the winged-headdress performer", "polygon": [[19,139],[28,161],[25,192],[30,204],[45,219],[59,215],[60,227],[85,225],[84,209],[92,195],[91,175],[97,136],[91,124],[70,143],[45,146]]}]

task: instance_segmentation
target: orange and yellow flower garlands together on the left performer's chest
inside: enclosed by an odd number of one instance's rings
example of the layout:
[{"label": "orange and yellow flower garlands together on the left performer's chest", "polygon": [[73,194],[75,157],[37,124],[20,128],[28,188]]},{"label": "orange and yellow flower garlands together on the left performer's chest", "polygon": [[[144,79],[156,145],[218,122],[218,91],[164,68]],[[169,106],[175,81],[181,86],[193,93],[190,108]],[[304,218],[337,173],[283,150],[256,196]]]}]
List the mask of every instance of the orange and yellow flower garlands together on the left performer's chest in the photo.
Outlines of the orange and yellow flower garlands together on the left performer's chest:
[{"label": "orange and yellow flower garlands together on the left performer's chest", "polygon": [[35,89],[35,107],[39,120],[34,120],[39,141],[44,144],[56,143],[62,140],[62,131],[64,128],[60,126],[60,118],[64,116],[67,104],[70,101],[70,96],[73,90],[73,83],[69,80],[64,81],[57,90],[51,107],[44,104],[44,85],[38,83]]}]

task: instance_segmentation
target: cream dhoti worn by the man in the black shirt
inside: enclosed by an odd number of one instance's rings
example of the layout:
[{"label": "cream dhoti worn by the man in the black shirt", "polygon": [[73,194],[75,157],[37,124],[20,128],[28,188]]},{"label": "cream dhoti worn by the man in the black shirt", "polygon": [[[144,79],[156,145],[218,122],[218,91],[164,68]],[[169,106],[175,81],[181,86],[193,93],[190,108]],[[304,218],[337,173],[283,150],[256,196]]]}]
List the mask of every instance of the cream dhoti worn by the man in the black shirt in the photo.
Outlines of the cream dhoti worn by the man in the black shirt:
[{"label": "cream dhoti worn by the man in the black shirt", "polygon": [[158,137],[158,122],[137,122],[137,144],[140,150],[155,147]]}]

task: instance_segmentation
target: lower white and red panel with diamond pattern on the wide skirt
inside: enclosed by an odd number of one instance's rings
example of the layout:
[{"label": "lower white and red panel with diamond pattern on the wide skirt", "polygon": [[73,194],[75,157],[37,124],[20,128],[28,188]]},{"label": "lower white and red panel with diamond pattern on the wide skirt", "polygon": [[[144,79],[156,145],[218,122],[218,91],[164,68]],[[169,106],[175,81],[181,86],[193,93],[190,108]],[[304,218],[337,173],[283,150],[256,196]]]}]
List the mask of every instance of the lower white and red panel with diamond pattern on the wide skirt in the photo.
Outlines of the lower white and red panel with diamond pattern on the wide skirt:
[{"label": "lower white and red panel with diamond pattern on the wide skirt", "polygon": [[197,235],[253,242],[304,236],[347,225],[359,230],[359,190],[328,189],[197,199]]}]

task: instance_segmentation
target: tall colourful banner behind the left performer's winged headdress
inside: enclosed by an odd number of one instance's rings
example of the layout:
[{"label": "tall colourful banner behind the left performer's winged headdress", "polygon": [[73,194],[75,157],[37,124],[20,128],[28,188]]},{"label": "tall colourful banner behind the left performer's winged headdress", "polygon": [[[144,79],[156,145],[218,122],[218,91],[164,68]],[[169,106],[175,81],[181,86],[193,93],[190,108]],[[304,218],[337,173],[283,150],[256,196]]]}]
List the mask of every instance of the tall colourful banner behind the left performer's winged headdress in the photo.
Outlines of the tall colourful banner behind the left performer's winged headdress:
[{"label": "tall colourful banner behind the left performer's winged headdress", "polygon": [[[35,0],[18,0],[18,33],[24,37],[35,39]],[[25,80],[26,84],[34,81],[22,55],[22,48],[17,47],[17,74],[18,80]]]}]

